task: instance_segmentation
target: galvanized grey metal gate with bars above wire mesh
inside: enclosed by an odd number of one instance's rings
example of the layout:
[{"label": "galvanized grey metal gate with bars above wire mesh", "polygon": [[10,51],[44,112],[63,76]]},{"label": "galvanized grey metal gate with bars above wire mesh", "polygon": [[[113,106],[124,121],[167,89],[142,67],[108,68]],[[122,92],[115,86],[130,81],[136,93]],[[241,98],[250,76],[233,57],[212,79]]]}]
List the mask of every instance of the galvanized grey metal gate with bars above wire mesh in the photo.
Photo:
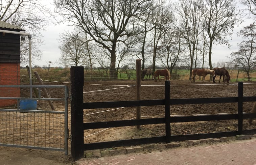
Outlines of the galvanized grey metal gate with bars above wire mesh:
[{"label": "galvanized grey metal gate with bars above wire mesh", "polygon": [[[68,154],[68,87],[65,85],[0,85],[1,88],[37,88],[38,98],[0,97],[17,100],[17,108],[0,109],[0,145],[64,151]],[[41,88],[62,88],[63,98],[42,98]],[[63,101],[63,111],[20,109],[21,100]]]}]

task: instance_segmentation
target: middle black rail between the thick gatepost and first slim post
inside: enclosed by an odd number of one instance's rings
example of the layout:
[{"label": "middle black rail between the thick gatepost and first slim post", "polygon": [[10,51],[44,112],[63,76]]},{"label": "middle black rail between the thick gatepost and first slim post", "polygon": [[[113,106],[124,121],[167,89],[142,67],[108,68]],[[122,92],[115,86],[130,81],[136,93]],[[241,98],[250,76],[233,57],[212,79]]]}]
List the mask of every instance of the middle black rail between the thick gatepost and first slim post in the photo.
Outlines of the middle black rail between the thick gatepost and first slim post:
[{"label": "middle black rail between the thick gatepost and first slim post", "polygon": [[163,123],[165,123],[164,117],[134,119],[134,120],[87,122],[87,123],[84,123],[84,130],[98,129],[98,128],[109,128],[109,127],[114,128],[114,127],[149,125],[149,124],[163,124]]}]

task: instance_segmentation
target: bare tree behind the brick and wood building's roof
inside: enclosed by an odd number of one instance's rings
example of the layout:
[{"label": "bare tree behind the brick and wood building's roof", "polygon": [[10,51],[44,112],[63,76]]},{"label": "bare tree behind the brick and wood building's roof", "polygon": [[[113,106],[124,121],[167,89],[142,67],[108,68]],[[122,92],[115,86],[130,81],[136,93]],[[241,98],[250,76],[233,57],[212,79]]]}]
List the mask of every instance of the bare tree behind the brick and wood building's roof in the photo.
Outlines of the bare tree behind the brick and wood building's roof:
[{"label": "bare tree behind the brick and wood building's roof", "polygon": [[[43,43],[41,31],[48,26],[48,18],[51,13],[39,0],[1,0],[0,20],[21,27],[32,35],[31,56],[33,59],[41,59],[41,51],[38,46]],[[29,61],[28,42],[21,42],[21,63]]]}]

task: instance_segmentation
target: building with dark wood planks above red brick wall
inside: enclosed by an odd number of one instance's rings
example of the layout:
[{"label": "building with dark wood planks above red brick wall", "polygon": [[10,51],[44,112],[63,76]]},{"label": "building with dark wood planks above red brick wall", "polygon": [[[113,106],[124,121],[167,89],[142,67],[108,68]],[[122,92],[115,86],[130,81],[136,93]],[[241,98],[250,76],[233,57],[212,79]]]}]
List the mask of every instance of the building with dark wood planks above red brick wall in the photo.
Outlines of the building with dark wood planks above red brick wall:
[{"label": "building with dark wood planks above red brick wall", "polygon": [[[19,27],[0,21],[0,85],[20,85]],[[0,87],[0,97],[20,97],[19,88]],[[0,107],[17,104],[17,100],[0,99]]]}]

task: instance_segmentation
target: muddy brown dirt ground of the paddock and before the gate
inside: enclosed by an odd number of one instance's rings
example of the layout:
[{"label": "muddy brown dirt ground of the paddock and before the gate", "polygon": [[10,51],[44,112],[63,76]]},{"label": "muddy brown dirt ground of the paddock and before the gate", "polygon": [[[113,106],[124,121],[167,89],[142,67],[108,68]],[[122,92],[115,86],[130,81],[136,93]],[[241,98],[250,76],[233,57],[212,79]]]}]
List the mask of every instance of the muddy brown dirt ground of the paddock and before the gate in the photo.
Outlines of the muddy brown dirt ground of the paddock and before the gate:
[{"label": "muddy brown dirt ground of the paddock and before the gate", "polygon": [[[69,83],[44,82],[45,85],[67,85]],[[100,81],[85,82],[84,102],[102,101],[125,101],[136,100],[135,80]],[[164,99],[164,81],[154,82],[153,80],[141,81],[141,100]],[[244,96],[256,96],[256,82],[244,82]],[[108,90],[105,90],[108,89]],[[70,90],[69,90],[70,91]],[[60,98],[64,91],[52,89],[48,91],[51,98]],[[28,93],[29,94],[29,93]],[[237,83],[215,83],[210,81],[174,81],[171,80],[170,98],[215,98],[215,97],[237,97]],[[26,93],[22,92],[25,96]],[[63,110],[64,104],[54,102],[58,110]],[[243,111],[251,111],[253,102],[243,104]],[[39,103],[39,108],[50,109],[47,103]],[[174,105],[170,107],[171,115],[193,115],[193,114],[215,114],[215,113],[236,113],[237,103],[223,104],[195,104],[195,105]],[[104,111],[104,112],[102,112]],[[164,106],[141,107],[141,118],[162,117]],[[84,122],[112,121],[136,118],[136,107],[114,108],[114,109],[88,109],[84,110]],[[69,127],[70,127],[70,101],[69,101]],[[110,128],[85,130],[85,143],[133,139],[141,137],[154,137],[165,135],[164,125],[143,125],[140,130],[136,127]],[[247,119],[244,120],[243,129],[256,129],[256,121],[249,125]],[[69,128],[70,130],[70,128]],[[196,134],[237,130],[237,120],[221,121],[200,121],[187,123],[171,123],[171,134]],[[70,141],[69,141],[70,144]],[[70,148],[70,146],[69,146]],[[70,154],[70,150],[69,150]],[[34,150],[14,147],[0,146],[1,164],[75,164],[70,155],[65,156],[63,152]]]}]

